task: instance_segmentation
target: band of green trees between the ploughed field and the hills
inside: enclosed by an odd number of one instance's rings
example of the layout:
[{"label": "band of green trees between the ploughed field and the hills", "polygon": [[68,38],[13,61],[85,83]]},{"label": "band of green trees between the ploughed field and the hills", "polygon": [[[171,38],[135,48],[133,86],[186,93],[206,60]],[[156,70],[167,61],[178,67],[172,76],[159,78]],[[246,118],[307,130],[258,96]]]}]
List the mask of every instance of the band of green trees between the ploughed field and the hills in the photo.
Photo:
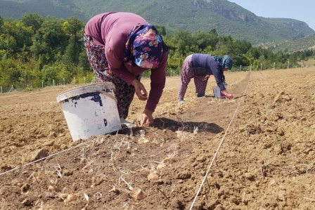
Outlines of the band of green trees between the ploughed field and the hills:
[{"label": "band of green trees between the ploughed field and the hills", "polygon": [[[53,84],[92,81],[94,73],[83,45],[85,23],[78,18],[46,17],[25,13],[20,19],[0,16],[0,86],[4,88],[39,88]],[[298,67],[297,62],[314,57],[314,51],[272,53],[248,41],[209,32],[176,30],[167,34],[165,27],[155,25],[169,47],[167,73],[180,74],[187,55],[206,53],[230,55],[234,66],[277,63],[276,68]],[[149,74],[146,72],[146,74]]]}]

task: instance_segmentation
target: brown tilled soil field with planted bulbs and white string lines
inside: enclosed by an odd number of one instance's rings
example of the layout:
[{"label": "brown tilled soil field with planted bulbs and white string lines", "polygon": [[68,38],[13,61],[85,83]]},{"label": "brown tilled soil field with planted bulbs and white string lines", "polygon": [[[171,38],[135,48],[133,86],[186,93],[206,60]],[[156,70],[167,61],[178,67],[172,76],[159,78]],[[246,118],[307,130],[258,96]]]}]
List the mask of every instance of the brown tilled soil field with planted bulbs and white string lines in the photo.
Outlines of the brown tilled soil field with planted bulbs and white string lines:
[{"label": "brown tilled soil field with planted bulbs and white string lines", "polygon": [[134,98],[134,128],[75,143],[56,97],[76,86],[1,94],[0,209],[314,209],[315,68],[226,81],[233,100],[210,77],[178,105],[167,77],[153,126]]}]

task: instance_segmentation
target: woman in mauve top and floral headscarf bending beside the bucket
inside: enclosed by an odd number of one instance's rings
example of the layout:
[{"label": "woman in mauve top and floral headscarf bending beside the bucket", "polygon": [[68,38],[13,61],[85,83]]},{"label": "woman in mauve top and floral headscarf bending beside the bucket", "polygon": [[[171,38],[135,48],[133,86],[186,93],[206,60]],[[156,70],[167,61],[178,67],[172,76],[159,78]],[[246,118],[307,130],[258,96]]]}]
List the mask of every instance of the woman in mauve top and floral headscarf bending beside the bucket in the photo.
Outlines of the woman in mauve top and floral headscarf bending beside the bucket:
[{"label": "woman in mauve top and floral headscarf bending beside the bucket", "polygon": [[[153,124],[167,65],[167,46],[158,30],[134,13],[102,13],[86,23],[84,46],[97,81],[115,84],[121,121],[126,122],[136,93],[139,100],[147,100],[141,125]],[[149,94],[140,81],[146,70],[151,70]]]}]

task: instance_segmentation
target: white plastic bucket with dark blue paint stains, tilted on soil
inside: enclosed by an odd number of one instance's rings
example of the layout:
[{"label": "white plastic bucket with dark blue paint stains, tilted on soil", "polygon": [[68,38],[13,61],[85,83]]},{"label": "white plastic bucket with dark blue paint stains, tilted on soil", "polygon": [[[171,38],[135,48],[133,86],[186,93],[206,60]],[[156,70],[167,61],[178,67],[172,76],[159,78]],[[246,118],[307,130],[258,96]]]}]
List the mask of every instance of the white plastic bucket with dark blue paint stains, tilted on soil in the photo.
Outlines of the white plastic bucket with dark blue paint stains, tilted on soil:
[{"label": "white plastic bucket with dark blue paint stains, tilted on soil", "polygon": [[122,129],[114,91],[113,83],[104,82],[57,96],[73,141]]}]

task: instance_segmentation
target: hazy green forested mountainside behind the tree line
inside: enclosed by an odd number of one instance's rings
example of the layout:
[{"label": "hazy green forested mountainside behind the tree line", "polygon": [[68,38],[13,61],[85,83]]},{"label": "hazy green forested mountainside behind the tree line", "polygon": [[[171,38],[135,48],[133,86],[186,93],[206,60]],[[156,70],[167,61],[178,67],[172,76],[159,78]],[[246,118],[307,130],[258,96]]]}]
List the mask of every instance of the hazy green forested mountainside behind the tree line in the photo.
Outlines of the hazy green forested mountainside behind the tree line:
[{"label": "hazy green forested mountainside behind the tree line", "polygon": [[[36,5],[36,6],[35,6]],[[231,35],[234,39],[262,44],[295,40],[315,34],[305,22],[288,18],[262,18],[227,0],[10,0],[0,1],[3,18],[20,18],[23,13],[68,18],[86,22],[98,13],[129,11],[138,13],[153,25],[164,25],[167,32],[176,29],[210,31]],[[158,15],[157,15],[158,14]]]}]

